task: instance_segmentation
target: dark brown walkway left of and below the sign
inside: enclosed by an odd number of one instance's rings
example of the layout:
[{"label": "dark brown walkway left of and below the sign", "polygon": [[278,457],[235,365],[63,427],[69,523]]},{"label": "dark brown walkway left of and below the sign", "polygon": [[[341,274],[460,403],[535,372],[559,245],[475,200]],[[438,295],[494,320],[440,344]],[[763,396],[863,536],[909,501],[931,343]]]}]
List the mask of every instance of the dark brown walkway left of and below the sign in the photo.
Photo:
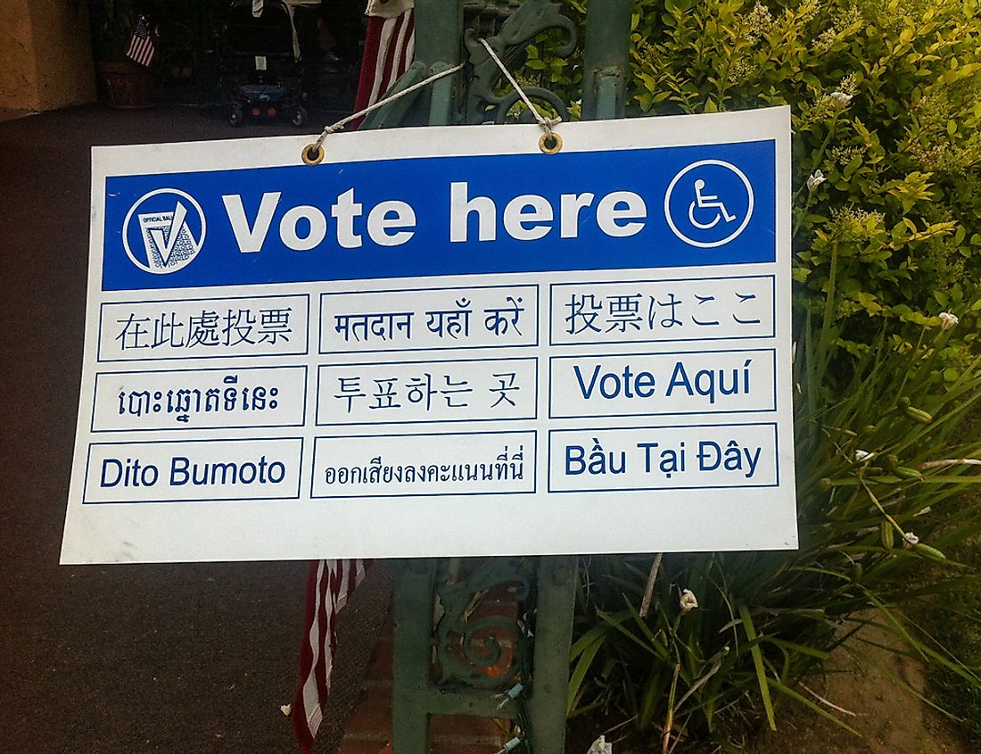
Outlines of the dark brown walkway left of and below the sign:
[{"label": "dark brown walkway left of and below the sign", "polygon": [[[310,127],[321,123],[315,116]],[[219,110],[85,107],[0,122],[0,754],[295,752],[306,564],[58,565],[77,413],[89,147],[232,131]],[[336,750],[387,606],[376,569],[341,618]]]}]

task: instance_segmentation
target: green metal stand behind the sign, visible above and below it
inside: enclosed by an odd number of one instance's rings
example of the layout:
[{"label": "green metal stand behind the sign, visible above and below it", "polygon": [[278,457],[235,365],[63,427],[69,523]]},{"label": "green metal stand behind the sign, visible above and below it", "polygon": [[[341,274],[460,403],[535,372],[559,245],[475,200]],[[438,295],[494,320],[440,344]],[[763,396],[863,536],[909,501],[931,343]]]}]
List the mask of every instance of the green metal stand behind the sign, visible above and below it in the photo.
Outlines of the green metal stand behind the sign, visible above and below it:
[{"label": "green metal stand behind the sign, visible above and below it", "polygon": [[[484,12],[496,8],[470,2]],[[462,0],[416,0],[416,62],[395,88],[404,88],[459,63],[464,46]],[[477,8],[477,6],[480,6]],[[503,49],[527,43],[545,27],[575,29],[547,0],[529,0],[527,6],[511,3],[516,10],[507,30],[498,31]],[[523,15],[521,15],[523,14]],[[504,14],[503,18],[507,18]],[[630,0],[591,0],[587,19],[583,114],[598,120],[621,117],[624,112],[630,48]],[[503,42],[499,41],[503,40]],[[503,50],[498,50],[502,52]],[[471,50],[471,54],[474,51]],[[366,121],[369,128],[389,125],[449,125],[481,122],[487,107],[500,105],[494,94],[496,72],[471,72],[467,106],[461,99],[463,77],[446,77],[406,98],[388,105]],[[478,81],[479,80],[479,81]],[[475,83],[477,81],[477,83]],[[483,88],[481,88],[483,87]],[[475,95],[475,91],[479,92]],[[539,92],[542,95],[542,92]],[[473,99],[474,102],[470,102]],[[471,113],[468,107],[472,105]],[[438,562],[404,561],[394,595],[395,677],[392,688],[392,745],[394,754],[428,754],[429,718],[434,714],[518,717],[518,704],[501,705],[499,693],[488,687],[469,687],[459,678],[453,682],[433,677],[434,598],[438,591]],[[569,684],[569,648],[572,643],[577,559],[572,556],[542,557],[537,575],[535,640],[530,696],[527,702],[529,742],[535,754],[562,754],[565,745],[565,701]],[[483,587],[486,588],[486,587]],[[445,594],[445,593],[443,593]],[[442,603],[445,607],[446,602]],[[446,617],[444,617],[446,619]],[[442,623],[440,623],[442,625]],[[444,658],[445,659],[445,658]],[[445,663],[443,664],[445,671]],[[528,678],[522,678],[528,681]],[[499,692],[501,689],[496,689]]]}]

